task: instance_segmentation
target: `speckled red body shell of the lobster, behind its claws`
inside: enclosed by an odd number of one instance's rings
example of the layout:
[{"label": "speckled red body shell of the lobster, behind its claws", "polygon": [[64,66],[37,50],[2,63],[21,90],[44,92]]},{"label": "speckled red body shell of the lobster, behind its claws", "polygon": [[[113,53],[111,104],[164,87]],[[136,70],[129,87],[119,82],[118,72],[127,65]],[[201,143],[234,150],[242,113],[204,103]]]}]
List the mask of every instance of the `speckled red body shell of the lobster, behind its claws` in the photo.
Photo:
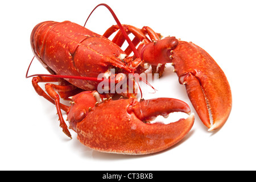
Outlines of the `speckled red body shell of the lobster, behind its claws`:
[{"label": "speckled red body shell of the lobster, behind its claws", "polygon": [[[42,22],[31,33],[31,47],[40,63],[52,74],[98,77],[109,75],[110,67],[130,72],[122,62],[126,54],[109,39],[79,24]],[[97,89],[97,82],[66,78],[68,82],[84,90]]]}]

